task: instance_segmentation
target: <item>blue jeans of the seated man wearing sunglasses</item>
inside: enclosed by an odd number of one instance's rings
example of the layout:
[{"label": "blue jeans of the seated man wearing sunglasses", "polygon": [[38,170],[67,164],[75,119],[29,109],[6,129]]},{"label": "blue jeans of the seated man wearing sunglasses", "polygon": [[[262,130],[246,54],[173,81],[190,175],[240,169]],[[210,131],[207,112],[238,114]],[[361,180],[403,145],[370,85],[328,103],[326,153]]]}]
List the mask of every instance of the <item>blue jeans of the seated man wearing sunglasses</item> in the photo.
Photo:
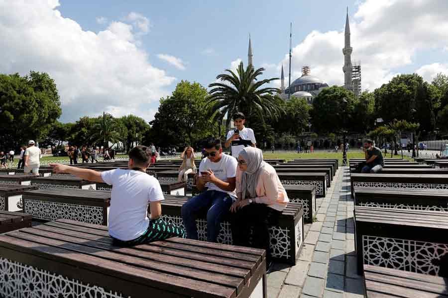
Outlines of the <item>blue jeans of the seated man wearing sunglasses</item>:
[{"label": "blue jeans of the seated man wearing sunglasses", "polygon": [[225,192],[208,190],[191,198],[182,206],[182,221],[187,238],[198,240],[196,219],[198,213],[207,210],[207,241],[216,242],[224,216],[229,212],[233,199]]}]

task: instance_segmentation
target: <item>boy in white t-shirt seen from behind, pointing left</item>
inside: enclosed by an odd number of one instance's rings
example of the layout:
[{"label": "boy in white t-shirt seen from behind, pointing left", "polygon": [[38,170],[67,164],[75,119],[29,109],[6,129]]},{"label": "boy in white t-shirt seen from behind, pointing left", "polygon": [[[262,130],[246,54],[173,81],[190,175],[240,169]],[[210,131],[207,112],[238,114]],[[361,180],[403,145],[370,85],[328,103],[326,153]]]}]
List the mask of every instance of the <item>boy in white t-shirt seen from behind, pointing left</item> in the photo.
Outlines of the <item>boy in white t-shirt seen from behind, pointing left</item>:
[{"label": "boy in white t-shirt seen from behind, pointing left", "polygon": [[109,234],[115,245],[132,246],[170,237],[185,238],[182,228],[160,219],[160,201],[164,197],[157,179],[146,173],[150,157],[147,147],[135,146],[129,151],[127,169],[97,172],[64,164],[50,166],[56,173],[112,185]]}]

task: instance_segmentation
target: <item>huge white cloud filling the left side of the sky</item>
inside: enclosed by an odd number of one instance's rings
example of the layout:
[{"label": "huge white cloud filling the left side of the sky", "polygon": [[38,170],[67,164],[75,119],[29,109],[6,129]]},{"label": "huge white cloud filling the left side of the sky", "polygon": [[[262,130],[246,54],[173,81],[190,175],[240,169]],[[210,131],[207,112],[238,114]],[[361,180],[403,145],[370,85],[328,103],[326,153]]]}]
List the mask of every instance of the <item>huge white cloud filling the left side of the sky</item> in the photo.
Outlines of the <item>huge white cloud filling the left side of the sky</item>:
[{"label": "huge white cloud filling the left side of the sky", "polygon": [[84,31],[57,6],[57,0],[0,1],[0,72],[47,72],[61,96],[62,121],[103,111],[149,120],[175,78],[149,63],[129,24]]}]

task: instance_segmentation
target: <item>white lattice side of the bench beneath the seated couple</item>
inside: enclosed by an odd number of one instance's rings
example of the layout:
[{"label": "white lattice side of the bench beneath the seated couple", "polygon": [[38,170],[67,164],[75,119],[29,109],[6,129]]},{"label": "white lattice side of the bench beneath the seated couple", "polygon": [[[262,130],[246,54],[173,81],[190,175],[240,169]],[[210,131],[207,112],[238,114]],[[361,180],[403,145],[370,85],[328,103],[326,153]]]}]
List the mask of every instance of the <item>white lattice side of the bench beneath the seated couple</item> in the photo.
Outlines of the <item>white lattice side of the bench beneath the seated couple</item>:
[{"label": "white lattice side of the bench beneath the seated couple", "polygon": [[[180,216],[167,216],[163,215],[161,217],[164,221],[177,224],[182,228],[185,228],[182,223],[182,218]],[[302,220],[302,219],[301,219]],[[201,241],[207,241],[207,221],[206,220],[196,220],[196,227],[198,229],[198,238]],[[275,258],[289,258],[291,255],[291,239],[289,236],[288,228],[280,228],[278,226],[269,227],[270,235],[270,249],[271,255]],[[299,224],[298,234],[302,233],[302,224]],[[301,238],[300,235],[298,237]],[[299,238],[297,238],[299,239]],[[218,235],[218,243],[232,244],[232,231],[230,228],[230,223],[221,223],[221,230]]]}]

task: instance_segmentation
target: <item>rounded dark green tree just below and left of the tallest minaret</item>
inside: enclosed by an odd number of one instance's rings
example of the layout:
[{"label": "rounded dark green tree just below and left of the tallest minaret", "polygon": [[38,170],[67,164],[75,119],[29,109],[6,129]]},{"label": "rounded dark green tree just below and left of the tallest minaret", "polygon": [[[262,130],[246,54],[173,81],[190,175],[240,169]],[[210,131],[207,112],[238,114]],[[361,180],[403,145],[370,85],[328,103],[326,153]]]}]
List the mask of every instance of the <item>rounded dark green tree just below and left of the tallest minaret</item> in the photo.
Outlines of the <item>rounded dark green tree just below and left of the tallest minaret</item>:
[{"label": "rounded dark green tree just below and left of the tallest minaret", "polygon": [[323,89],[313,101],[311,121],[314,130],[318,133],[336,133],[354,127],[352,115],[355,104],[353,93],[343,87]]}]

